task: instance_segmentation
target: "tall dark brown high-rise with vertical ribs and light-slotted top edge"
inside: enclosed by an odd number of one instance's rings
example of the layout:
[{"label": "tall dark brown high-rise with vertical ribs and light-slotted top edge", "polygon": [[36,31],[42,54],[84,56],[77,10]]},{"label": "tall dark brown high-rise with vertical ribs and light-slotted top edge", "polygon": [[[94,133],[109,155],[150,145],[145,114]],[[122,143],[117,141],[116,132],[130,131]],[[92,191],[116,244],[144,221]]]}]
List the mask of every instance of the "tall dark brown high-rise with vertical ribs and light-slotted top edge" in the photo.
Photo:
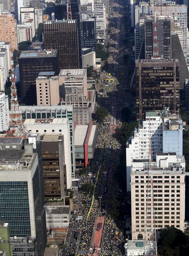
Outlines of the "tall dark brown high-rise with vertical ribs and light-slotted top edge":
[{"label": "tall dark brown high-rise with vertical ribs and light-slotted top edge", "polygon": [[58,50],[59,70],[79,68],[77,21],[57,20],[44,22],[44,46],[45,49]]}]

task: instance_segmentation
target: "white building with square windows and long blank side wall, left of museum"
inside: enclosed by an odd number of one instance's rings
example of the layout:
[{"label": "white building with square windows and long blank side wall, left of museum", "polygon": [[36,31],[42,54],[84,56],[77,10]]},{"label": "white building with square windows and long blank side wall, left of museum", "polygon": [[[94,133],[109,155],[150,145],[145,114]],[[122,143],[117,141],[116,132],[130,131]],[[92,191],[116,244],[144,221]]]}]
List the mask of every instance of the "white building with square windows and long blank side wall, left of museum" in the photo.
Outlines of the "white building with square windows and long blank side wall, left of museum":
[{"label": "white building with square windows and long blank side wall, left of museum", "polygon": [[49,118],[49,119],[26,119],[24,127],[30,133],[40,135],[63,135],[64,158],[66,165],[66,185],[71,189],[71,143],[70,125],[68,118]]}]

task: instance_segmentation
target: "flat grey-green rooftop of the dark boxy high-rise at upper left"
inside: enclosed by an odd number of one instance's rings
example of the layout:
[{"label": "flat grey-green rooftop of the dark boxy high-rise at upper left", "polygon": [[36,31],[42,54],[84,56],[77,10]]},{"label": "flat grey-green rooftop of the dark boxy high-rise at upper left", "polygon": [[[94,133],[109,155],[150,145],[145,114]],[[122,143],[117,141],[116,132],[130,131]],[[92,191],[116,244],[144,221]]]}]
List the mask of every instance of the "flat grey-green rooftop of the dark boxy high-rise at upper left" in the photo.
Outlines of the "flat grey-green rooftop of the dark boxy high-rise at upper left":
[{"label": "flat grey-green rooftop of the dark boxy high-rise at upper left", "polygon": [[57,52],[58,52],[58,50],[21,51],[19,59],[22,59],[22,58],[56,57]]}]

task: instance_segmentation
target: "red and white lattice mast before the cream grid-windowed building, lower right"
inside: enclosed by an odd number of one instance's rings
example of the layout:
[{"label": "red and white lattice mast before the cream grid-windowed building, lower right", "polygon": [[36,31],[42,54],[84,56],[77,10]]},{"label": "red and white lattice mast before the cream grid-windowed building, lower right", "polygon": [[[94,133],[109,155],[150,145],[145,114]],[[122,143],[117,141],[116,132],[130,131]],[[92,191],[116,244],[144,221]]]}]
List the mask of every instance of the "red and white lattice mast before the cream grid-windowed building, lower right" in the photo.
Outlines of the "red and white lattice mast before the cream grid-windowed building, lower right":
[{"label": "red and white lattice mast before the cream grid-windowed building, lower right", "polygon": [[144,256],[157,256],[156,241],[156,223],[154,212],[153,198],[153,173],[152,173],[152,152],[150,136],[150,117],[149,117],[149,163],[148,163],[148,187],[147,187],[147,204],[145,220],[145,245]]}]

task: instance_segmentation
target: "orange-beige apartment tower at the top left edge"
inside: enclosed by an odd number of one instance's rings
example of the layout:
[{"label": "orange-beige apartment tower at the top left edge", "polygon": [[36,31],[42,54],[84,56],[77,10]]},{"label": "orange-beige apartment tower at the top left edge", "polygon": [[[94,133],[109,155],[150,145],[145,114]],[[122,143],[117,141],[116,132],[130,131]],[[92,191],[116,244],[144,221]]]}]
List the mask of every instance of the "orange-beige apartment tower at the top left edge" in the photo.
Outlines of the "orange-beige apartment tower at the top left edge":
[{"label": "orange-beige apartment tower at the top left edge", "polygon": [[0,41],[10,42],[11,49],[18,49],[17,22],[9,12],[3,12],[0,16]]}]

